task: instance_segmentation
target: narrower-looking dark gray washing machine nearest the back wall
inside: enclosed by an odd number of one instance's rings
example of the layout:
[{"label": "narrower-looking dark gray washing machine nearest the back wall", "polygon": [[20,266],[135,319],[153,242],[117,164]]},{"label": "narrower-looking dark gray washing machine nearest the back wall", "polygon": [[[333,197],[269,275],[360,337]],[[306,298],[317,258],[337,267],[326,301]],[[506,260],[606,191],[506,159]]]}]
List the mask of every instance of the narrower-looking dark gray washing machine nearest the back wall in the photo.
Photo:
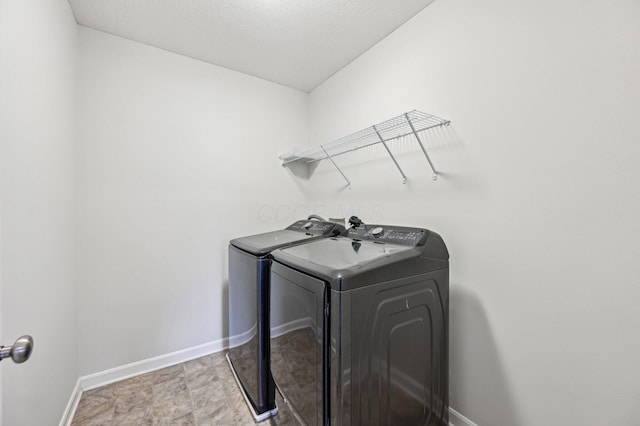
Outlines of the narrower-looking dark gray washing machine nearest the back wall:
[{"label": "narrower-looking dark gray washing machine nearest the back wall", "polygon": [[[316,216],[312,216],[316,217]],[[269,373],[271,252],[345,232],[324,220],[299,220],[285,229],[229,243],[229,350],[227,360],[256,421],[277,412]]]}]

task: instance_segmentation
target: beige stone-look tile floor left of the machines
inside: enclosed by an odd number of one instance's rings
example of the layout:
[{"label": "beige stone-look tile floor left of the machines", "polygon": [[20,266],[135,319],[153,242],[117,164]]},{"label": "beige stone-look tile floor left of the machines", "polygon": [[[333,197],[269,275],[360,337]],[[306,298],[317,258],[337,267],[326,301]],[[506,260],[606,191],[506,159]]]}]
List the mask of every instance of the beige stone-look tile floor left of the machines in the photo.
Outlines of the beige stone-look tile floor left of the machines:
[{"label": "beige stone-look tile floor left of the machines", "polygon": [[[278,403],[278,421],[292,424]],[[224,352],[85,391],[72,426],[256,425]]]}]

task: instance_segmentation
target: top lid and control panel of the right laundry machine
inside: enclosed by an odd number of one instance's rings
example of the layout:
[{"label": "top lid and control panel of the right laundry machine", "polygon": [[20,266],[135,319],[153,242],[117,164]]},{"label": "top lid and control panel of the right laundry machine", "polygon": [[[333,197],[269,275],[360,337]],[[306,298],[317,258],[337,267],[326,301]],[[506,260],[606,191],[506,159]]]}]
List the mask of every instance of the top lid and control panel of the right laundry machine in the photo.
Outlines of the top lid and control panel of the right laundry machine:
[{"label": "top lid and control panel of the right laundry machine", "polygon": [[[383,229],[383,234],[373,231]],[[345,291],[448,268],[442,238],[426,229],[370,225],[349,236],[286,247],[274,260]]]}]

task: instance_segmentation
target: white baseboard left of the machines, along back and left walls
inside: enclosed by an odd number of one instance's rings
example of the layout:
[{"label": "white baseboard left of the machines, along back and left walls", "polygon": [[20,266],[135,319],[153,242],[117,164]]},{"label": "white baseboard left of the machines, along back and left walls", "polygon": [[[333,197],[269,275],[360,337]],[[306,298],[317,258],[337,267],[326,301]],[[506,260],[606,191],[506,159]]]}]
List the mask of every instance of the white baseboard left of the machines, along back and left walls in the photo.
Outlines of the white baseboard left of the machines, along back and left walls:
[{"label": "white baseboard left of the machines, along back and left walls", "polygon": [[86,390],[94,389],[110,383],[119,382],[120,380],[138,376],[140,374],[159,370],[161,368],[170,367],[200,358],[205,355],[220,352],[229,346],[229,339],[224,338],[192,348],[182,349],[180,351],[171,352],[169,354],[160,355],[154,358],[133,362],[131,364],[122,365],[120,367],[110,368],[98,373],[82,376],[76,382],[73,394],[69,398],[67,408],[60,420],[60,426],[69,426],[73,420],[73,415],[78,407],[78,402],[82,397],[82,393]]}]

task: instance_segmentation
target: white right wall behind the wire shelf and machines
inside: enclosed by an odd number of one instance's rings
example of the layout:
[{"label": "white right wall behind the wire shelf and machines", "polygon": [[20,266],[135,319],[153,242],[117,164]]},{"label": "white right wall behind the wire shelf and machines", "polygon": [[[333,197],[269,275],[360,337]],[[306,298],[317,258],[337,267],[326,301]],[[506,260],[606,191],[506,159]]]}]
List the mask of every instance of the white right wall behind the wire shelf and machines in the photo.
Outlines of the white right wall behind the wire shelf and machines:
[{"label": "white right wall behind the wire shelf and machines", "polygon": [[[307,203],[451,252],[451,405],[482,426],[638,424],[640,6],[438,1],[311,93],[312,142],[414,108],[428,144],[323,165]],[[349,165],[351,164],[351,165]]]}]

